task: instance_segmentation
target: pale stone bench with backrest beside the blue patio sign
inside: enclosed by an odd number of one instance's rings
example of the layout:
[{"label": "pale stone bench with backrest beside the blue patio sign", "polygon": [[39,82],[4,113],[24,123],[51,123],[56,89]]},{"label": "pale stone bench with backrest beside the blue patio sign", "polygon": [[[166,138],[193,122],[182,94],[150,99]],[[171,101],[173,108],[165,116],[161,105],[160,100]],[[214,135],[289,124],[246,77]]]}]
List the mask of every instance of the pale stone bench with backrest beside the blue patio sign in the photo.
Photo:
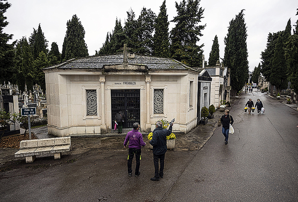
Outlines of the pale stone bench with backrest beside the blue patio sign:
[{"label": "pale stone bench with backrest beside the blue patio sign", "polygon": [[26,156],[26,163],[32,163],[36,155],[54,154],[55,160],[61,158],[62,152],[70,151],[70,137],[55,137],[39,140],[22,140],[20,150],[15,157]]}]

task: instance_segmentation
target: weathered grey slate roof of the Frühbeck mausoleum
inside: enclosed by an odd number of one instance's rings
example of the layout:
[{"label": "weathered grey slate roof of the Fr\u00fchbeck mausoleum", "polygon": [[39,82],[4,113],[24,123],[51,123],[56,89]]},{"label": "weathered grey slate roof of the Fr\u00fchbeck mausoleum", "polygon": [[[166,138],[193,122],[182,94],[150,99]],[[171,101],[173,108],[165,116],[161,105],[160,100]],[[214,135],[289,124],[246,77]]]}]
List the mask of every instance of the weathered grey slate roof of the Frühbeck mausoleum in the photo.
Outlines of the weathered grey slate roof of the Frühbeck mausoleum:
[{"label": "weathered grey slate roof of the Fr\u00fchbeck mausoleum", "polygon": [[[123,54],[111,54],[101,56],[90,56],[86,58],[71,59],[59,65],[44,68],[49,69],[103,69],[105,65],[122,65]],[[193,68],[183,63],[169,58],[149,57],[135,54],[134,58],[128,57],[128,65],[145,65],[148,69],[176,69],[176,70],[193,70]]]}]

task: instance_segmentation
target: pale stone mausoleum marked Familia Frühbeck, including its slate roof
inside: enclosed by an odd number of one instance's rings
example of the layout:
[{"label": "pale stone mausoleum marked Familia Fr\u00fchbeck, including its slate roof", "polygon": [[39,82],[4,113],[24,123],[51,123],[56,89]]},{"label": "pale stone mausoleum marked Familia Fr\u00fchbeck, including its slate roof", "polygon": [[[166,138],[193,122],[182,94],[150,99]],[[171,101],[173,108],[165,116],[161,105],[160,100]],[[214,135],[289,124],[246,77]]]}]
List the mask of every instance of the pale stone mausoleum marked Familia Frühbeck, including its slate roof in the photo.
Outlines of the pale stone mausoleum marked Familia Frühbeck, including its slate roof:
[{"label": "pale stone mausoleum marked Familia Fr\u00fchbeck, including its slate roof", "polygon": [[138,122],[143,132],[153,131],[160,119],[175,118],[173,129],[184,133],[197,125],[201,71],[174,59],[124,51],[71,59],[43,71],[49,134],[107,134],[120,110],[124,128]]}]

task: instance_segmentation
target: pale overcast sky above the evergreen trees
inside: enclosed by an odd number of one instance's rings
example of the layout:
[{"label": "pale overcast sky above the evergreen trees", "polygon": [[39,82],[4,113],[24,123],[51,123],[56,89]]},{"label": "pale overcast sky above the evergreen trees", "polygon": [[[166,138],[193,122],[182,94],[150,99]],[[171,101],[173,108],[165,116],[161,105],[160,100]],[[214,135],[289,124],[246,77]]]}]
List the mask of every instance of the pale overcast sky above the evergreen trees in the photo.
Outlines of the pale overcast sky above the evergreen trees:
[{"label": "pale overcast sky above the evergreen trees", "polygon": [[[66,33],[66,22],[74,14],[80,18],[85,29],[85,42],[89,55],[94,55],[105,42],[107,32],[112,32],[116,18],[121,20],[122,27],[131,8],[136,19],[143,7],[159,14],[163,0],[8,0],[11,7],[4,15],[9,25],[4,29],[7,34],[13,34],[13,40],[23,36],[31,36],[33,28],[41,24],[44,36],[49,41],[56,42],[62,51]],[[180,3],[180,0],[177,0]],[[220,57],[224,58],[224,37],[227,34],[229,22],[235,15],[245,9],[244,18],[247,27],[247,48],[249,71],[258,66],[261,51],[264,51],[269,32],[285,29],[291,18],[291,25],[298,19],[297,0],[201,0],[200,7],[204,8],[201,25],[206,24],[198,45],[204,43],[205,60],[208,61],[215,35],[218,36]],[[175,0],[166,0],[168,20],[177,15]],[[175,26],[170,23],[169,31]],[[293,32],[293,31],[292,31]]]}]

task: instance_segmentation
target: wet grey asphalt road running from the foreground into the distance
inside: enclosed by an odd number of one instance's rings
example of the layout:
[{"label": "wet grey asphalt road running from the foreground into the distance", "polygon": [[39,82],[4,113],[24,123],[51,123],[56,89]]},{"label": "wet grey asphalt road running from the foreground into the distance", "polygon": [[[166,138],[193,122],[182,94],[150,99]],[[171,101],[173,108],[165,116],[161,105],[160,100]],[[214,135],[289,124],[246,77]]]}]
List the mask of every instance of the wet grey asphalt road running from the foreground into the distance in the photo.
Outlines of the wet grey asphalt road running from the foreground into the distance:
[{"label": "wet grey asphalt road running from the foreground into the distance", "polygon": [[[247,114],[249,98],[264,115]],[[235,133],[221,127],[200,151],[168,151],[164,178],[153,177],[152,152],[142,150],[141,175],[127,176],[127,151],[44,158],[0,175],[0,201],[298,201],[298,112],[260,92],[232,105]],[[133,162],[133,168],[135,162]]]}]

